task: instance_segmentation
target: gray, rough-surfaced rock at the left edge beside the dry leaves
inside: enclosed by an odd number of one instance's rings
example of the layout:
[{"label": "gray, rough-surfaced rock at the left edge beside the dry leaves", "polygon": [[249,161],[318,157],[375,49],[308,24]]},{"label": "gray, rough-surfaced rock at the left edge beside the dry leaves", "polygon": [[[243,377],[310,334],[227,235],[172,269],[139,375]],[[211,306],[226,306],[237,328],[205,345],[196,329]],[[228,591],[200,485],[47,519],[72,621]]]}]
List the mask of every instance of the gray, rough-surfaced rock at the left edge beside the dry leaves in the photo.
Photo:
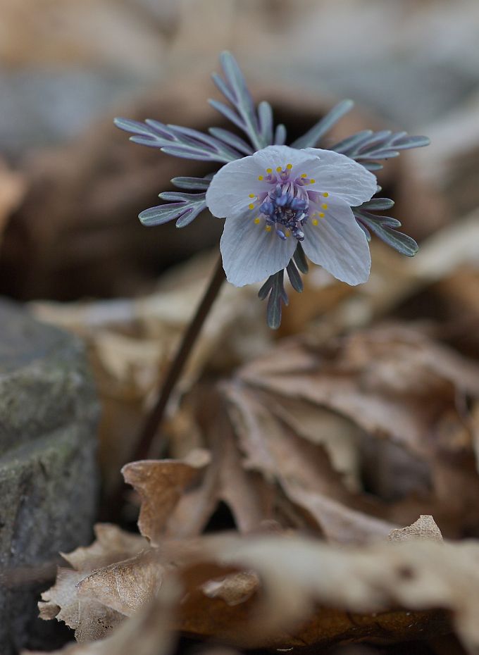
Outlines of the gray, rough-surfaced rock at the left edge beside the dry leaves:
[{"label": "gray, rough-surfaced rock at the left edge beside the dry leaves", "polygon": [[99,404],[79,339],[10,301],[0,325],[0,653],[13,655],[55,645],[39,592],[58,552],[91,540]]}]

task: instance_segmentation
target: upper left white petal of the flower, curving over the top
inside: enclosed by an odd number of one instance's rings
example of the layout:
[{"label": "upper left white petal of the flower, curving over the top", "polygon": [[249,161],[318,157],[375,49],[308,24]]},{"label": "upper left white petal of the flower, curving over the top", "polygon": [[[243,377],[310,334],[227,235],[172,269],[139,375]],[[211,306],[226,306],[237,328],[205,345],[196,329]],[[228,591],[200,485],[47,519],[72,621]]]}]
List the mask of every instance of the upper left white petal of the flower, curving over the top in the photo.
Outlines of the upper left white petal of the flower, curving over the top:
[{"label": "upper left white petal of the flower, curving over the top", "polygon": [[206,204],[213,216],[225,218],[232,214],[244,211],[255,199],[250,199],[249,194],[257,196],[261,192],[268,192],[271,185],[268,182],[259,180],[259,177],[266,177],[266,169],[273,171],[278,166],[284,168],[288,163],[292,165],[292,173],[296,173],[304,166],[310,166],[317,157],[307,154],[305,150],[297,150],[288,146],[268,146],[254,153],[236,159],[225,164],[218,170],[206,191]]}]

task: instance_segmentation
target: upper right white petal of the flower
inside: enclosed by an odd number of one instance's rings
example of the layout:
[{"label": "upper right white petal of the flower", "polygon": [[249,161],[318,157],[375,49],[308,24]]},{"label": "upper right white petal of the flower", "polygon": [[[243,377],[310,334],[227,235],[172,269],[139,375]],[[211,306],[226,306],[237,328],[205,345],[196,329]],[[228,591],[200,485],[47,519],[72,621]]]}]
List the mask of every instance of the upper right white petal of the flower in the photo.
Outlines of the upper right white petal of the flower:
[{"label": "upper right white petal of the flower", "polygon": [[305,153],[316,155],[315,163],[305,171],[315,182],[308,191],[328,192],[355,207],[373,196],[378,188],[375,175],[346,155],[332,150],[306,148]]}]

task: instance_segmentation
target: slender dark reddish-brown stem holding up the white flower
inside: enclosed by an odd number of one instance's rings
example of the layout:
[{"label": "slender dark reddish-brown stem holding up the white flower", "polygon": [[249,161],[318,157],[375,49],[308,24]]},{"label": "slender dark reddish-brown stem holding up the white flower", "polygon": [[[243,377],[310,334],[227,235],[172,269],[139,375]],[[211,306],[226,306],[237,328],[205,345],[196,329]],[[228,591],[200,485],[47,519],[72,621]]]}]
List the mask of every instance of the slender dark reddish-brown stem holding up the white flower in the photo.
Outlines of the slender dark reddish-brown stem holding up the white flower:
[{"label": "slender dark reddish-brown stem holding up the white flower", "polygon": [[175,357],[173,358],[173,361],[170,364],[170,368],[168,369],[168,373],[166,373],[166,378],[161,387],[161,393],[156,400],[154,408],[151,410],[149,416],[147,416],[147,420],[143,425],[142,432],[140,433],[134,454],[132,456],[132,461],[148,459],[151,451],[151,444],[154,441],[154,437],[158,432],[161,421],[163,420],[171,392],[173,392],[176,382],[178,382],[178,378],[180,378],[189,354],[191,353],[194,344],[197,342],[201,328],[203,327],[206,317],[209,315],[211,307],[213,306],[213,302],[218,296],[218,292],[220,291],[224,280],[225,272],[223,270],[223,263],[220,257],[218,259],[218,263],[216,263],[216,268],[213,271],[209,285],[204,292],[204,296],[199,303],[191,323],[189,323],[185,335],[183,335],[180,346],[178,347],[178,351],[176,351]]}]

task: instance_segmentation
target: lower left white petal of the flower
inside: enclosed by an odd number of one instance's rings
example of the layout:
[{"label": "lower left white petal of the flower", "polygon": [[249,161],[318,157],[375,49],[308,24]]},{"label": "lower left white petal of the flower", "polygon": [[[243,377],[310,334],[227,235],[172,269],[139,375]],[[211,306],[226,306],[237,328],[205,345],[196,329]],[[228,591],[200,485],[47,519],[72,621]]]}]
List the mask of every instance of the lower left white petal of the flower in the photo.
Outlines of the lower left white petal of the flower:
[{"label": "lower left white petal of the flower", "polygon": [[235,287],[261,282],[288,265],[296,244],[294,237],[282,241],[274,230],[266,232],[250,213],[227,218],[220,250],[228,282]]}]

